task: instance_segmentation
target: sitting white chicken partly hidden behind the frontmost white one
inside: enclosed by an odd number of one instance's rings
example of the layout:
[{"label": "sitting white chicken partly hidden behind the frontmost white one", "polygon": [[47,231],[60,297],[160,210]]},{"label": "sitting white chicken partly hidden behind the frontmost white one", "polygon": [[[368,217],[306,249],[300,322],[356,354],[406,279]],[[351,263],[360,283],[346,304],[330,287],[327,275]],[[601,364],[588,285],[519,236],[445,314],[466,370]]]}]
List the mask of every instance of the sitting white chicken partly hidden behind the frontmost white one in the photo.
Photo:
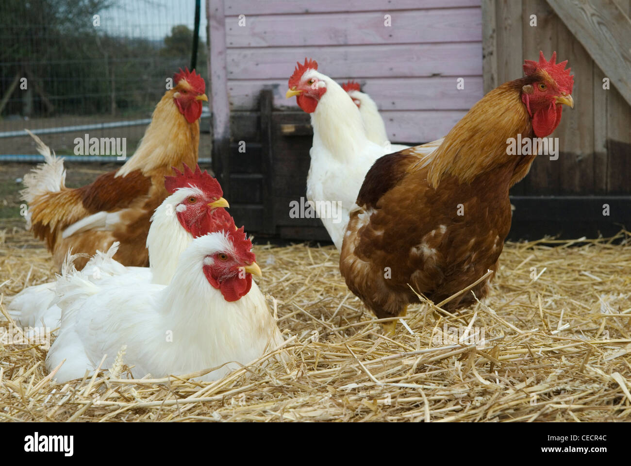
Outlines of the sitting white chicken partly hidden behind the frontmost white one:
[{"label": "sitting white chicken partly hidden behind the frontmost white one", "polygon": [[[117,277],[121,283],[146,282],[167,285],[177,266],[180,254],[196,236],[224,227],[231,222],[224,207],[228,202],[221,197],[219,182],[196,167],[193,172],[184,164],[184,172],[174,169],[175,176],[165,177],[165,188],[170,196],[156,208],[146,246],[149,267],[125,267],[109,261],[97,253],[81,270],[83,276],[98,283]],[[230,220],[228,220],[230,219]],[[55,304],[55,282],[34,285],[16,294],[8,306],[9,314],[20,326],[59,326],[61,309]]]}]

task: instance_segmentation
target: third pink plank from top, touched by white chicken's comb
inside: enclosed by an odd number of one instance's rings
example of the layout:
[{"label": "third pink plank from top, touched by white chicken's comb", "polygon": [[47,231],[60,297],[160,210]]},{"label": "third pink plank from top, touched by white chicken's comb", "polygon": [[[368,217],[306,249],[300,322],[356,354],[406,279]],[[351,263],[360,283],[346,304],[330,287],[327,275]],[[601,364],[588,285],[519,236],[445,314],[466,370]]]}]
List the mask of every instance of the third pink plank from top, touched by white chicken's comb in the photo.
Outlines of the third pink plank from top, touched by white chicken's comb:
[{"label": "third pink plank from top, touched by white chicken's comb", "polygon": [[280,79],[305,57],[329,76],[475,76],[482,74],[481,42],[228,49],[228,79]]}]

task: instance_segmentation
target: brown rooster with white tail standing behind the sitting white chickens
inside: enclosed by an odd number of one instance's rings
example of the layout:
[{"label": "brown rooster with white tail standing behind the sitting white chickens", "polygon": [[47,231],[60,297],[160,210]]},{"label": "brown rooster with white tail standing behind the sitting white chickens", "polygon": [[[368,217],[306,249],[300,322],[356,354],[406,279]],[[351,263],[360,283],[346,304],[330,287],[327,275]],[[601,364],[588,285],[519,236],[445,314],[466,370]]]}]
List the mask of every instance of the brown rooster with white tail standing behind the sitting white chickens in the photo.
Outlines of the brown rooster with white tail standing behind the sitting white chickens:
[{"label": "brown rooster with white tail standing behind the sitting white chickens", "polygon": [[[208,100],[195,70],[180,69],[174,83],[156,105],[133,157],[82,188],[64,186],[63,159],[32,134],[45,163],[24,177],[21,194],[28,203],[27,222],[45,240],[57,267],[69,249],[92,255],[97,249],[107,251],[114,241],[121,242],[115,260],[127,266],[149,264],[146,237],[153,211],[168,195],[164,177],[183,162],[197,164],[199,116],[202,101]],[[80,258],[75,265],[83,268],[86,261]]]}]

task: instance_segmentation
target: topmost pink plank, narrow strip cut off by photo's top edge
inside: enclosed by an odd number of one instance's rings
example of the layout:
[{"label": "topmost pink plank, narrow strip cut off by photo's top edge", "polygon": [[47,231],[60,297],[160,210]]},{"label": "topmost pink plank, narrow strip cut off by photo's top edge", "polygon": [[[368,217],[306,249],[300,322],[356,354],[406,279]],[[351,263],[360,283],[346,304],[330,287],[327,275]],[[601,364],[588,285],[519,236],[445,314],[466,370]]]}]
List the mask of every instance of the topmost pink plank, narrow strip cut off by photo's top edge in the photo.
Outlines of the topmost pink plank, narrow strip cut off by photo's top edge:
[{"label": "topmost pink plank, narrow strip cut off by photo's top edge", "polygon": [[226,0],[227,16],[276,13],[333,13],[341,11],[396,11],[400,9],[480,6],[480,0]]}]

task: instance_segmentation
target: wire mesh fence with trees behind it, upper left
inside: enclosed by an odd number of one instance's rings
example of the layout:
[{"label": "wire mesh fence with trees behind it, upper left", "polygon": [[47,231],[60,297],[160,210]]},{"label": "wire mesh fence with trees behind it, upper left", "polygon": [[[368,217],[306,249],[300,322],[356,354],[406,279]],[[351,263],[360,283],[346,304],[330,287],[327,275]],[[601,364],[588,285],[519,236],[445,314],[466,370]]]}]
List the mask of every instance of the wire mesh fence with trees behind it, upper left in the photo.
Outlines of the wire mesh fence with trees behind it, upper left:
[{"label": "wire mesh fence with trees behind it, upper left", "polygon": [[[24,128],[46,129],[42,138],[61,155],[73,155],[74,139],[85,133],[126,137],[133,151],[165,80],[191,66],[195,3],[0,2],[0,156],[35,153]],[[204,2],[201,8],[196,69],[205,78]],[[204,157],[209,118],[201,125]]]}]

